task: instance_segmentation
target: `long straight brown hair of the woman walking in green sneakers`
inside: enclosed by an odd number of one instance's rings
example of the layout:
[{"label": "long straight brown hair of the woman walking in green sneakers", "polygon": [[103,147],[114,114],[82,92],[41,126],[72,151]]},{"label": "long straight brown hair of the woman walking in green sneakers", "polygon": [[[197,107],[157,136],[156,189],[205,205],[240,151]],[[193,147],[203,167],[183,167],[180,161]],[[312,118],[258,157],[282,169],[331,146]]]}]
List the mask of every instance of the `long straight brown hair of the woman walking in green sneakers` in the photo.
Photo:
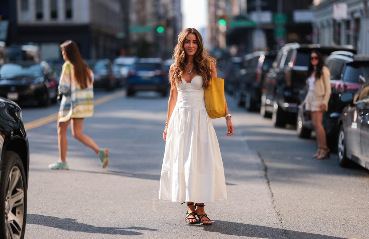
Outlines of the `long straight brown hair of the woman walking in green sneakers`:
[{"label": "long straight brown hair of the woman walking in green sneakers", "polygon": [[82,89],[87,88],[87,81],[92,83],[92,78],[90,75],[90,68],[82,60],[82,56],[79,53],[77,44],[74,41],[68,40],[60,45],[60,49],[65,51],[66,56],[70,63],[74,67],[74,76]]}]

